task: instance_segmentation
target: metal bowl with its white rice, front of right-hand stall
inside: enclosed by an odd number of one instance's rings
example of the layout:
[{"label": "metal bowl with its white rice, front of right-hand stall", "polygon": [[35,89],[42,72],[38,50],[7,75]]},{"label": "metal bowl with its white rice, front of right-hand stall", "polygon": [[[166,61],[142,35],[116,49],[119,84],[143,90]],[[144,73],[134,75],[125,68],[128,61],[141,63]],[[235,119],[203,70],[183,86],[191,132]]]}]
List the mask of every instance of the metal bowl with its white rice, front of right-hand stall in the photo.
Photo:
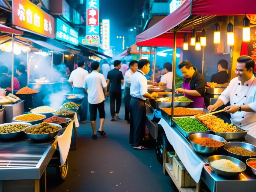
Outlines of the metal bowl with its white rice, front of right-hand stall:
[{"label": "metal bowl with its white rice, front of right-hand stall", "polygon": [[237,176],[246,170],[246,164],[242,161],[225,155],[212,155],[208,163],[216,174],[222,176]]}]

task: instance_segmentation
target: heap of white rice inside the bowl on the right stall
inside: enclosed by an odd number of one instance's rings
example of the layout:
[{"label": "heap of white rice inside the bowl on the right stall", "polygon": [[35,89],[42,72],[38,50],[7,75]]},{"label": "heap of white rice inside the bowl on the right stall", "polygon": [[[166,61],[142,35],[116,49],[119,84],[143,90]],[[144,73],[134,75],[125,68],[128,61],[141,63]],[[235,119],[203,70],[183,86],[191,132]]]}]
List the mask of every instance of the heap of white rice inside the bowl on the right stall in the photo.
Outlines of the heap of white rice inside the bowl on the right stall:
[{"label": "heap of white rice inside the bowl on the right stall", "polygon": [[210,165],[216,169],[226,171],[226,172],[240,172],[242,169],[234,164],[232,161],[227,159],[215,160],[210,163]]}]

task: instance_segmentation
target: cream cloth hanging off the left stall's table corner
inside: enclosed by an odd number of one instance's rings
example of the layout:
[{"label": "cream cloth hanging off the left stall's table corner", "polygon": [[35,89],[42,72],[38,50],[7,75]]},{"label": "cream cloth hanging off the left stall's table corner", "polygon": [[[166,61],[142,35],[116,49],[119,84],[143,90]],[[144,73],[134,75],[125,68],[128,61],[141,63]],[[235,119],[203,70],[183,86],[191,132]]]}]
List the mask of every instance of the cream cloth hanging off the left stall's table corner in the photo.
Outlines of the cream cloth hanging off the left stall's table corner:
[{"label": "cream cloth hanging off the left stall's table corner", "polygon": [[74,121],[71,121],[67,126],[64,133],[60,136],[57,136],[58,147],[60,151],[60,164],[63,166],[67,160],[68,152],[70,148],[72,130],[73,130]]}]

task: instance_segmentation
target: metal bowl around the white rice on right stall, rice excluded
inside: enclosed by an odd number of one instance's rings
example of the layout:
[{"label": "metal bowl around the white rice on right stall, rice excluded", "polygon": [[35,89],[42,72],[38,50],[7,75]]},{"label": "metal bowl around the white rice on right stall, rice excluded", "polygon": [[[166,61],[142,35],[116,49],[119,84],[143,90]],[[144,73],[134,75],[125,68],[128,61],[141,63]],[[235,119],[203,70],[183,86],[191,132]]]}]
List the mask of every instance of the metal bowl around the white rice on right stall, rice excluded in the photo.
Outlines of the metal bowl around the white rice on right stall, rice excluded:
[{"label": "metal bowl around the white rice on right stall, rice excluded", "polygon": [[[216,169],[213,166],[211,166],[211,162],[213,162],[215,160],[220,160],[220,159],[227,159],[227,160],[232,161],[235,165],[239,166],[242,169],[242,171],[240,171],[240,172],[227,172],[227,171],[222,171],[222,170]],[[237,176],[237,175],[240,175],[240,173],[242,173],[243,171],[246,170],[246,164],[244,164],[239,159],[236,159],[234,157],[229,157],[229,156],[226,156],[226,155],[212,155],[212,156],[208,157],[208,163],[209,163],[211,169],[215,173],[217,173],[218,175],[223,175],[223,176]]]}]

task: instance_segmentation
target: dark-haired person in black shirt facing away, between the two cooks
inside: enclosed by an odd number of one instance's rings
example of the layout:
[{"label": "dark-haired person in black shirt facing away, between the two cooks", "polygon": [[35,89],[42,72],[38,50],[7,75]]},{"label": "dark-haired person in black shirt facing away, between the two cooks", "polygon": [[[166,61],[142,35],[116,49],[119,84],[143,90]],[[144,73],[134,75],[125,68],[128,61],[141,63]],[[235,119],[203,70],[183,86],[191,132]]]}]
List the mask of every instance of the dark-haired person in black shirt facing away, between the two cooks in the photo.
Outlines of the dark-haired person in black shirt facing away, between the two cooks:
[{"label": "dark-haired person in black shirt facing away, between the two cooks", "polygon": [[229,82],[229,74],[227,73],[228,61],[221,59],[218,62],[218,73],[211,76],[211,82],[224,84]]}]

